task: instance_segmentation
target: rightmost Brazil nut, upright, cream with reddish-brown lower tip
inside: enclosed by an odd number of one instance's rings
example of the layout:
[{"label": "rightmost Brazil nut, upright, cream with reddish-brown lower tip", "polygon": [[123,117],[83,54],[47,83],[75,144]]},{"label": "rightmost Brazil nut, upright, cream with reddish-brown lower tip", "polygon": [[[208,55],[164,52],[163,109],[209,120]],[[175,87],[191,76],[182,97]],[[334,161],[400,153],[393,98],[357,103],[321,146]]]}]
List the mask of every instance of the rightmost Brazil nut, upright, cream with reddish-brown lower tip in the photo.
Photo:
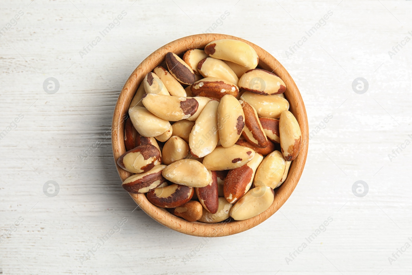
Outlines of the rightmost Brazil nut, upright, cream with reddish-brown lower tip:
[{"label": "rightmost Brazil nut, upright, cream with reddish-brown lower tip", "polygon": [[299,123],[290,111],[283,111],[279,118],[279,136],[285,160],[294,160],[300,151],[302,133]]}]

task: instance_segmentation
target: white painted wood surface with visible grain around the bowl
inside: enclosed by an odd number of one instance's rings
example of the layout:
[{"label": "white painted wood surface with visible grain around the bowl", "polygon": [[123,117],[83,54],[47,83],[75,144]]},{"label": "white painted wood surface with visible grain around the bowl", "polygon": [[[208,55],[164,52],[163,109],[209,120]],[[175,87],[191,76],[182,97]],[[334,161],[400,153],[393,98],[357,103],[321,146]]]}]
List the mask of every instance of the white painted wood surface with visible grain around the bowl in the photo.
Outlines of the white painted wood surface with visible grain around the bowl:
[{"label": "white painted wood surface with visible grain around the bowl", "polygon": [[[119,26],[82,58],[79,51],[122,11]],[[333,118],[311,138],[302,179],[279,212],[244,233],[207,240],[135,209],[104,134],[138,63],[172,40],[213,27],[225,11],[213,32],[244,38],[278,58],[300,88],[311,130]],[[287,57],[328,11],[326,24]],[[392,263],[388,257],[412,244],[412,146],[392,160],[388,154],[412,141],[412,42],[392,58],[388,51],[412,38],[412,1],[21,0],[2,1],[0,14],[6,27],[0,132],[24,116],[0,141],[4,274],[410,273],[412,248]],[[56,94],[43,90],[49,77],[60,83]],[[364,94],[352,90],[358,77],[368,80]],[[60,186],[56,197],[43,193],[49,180]],[[365,197],[352,193],[358,180],[368,183]],[[82,262],[124,217],[120,231]],[[328,217],[326,231],[287,263]]]}]

